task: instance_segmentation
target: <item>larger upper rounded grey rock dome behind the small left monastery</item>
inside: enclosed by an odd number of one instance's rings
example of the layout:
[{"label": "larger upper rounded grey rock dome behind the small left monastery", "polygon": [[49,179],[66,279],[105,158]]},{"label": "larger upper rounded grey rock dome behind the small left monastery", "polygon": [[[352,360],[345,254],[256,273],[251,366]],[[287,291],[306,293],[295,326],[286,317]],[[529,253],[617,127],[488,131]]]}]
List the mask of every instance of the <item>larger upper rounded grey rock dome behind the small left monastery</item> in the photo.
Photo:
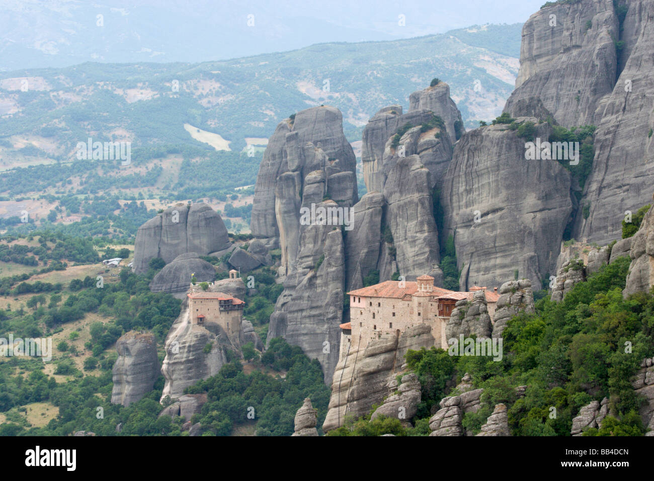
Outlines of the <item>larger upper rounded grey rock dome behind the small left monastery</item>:
[{"label": "larger upper rounded grey rock dome behind the small left monastery", "polygon": [[227,228],[216,211],[204,203],[178,204],[139,227],[132,270],[146,272],[156,257],[167,264],[181,254],[207,255],[228,247]]}]

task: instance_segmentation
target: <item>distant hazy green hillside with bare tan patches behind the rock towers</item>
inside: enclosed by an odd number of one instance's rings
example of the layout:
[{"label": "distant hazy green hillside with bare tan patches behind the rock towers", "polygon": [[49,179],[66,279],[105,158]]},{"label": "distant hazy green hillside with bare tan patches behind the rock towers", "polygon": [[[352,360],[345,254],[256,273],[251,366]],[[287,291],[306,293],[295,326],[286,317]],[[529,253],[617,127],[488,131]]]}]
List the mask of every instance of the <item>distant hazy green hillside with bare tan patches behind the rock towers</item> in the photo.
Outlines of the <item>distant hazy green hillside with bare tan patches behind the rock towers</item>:
[{"label": "distant hazy green hillside with bare tan patches behind the rock towers", "polygon": [[39,158],[64,160],[90,134],[135,146],[201,147],[207,147],[201,135],[218,134],[218,143],[226,145],[224,139],[241,151],[248,143],[262,148],[265,141],[253,137],[267,138],[283,118],[325,103],[343,112],[347,138],[358,141],[377,110],[407,105],[409,94],[434,77],[451,85],[470,128],[501,112],[513,90],[520,41],[521,24],[492,25],[221,62],[10,71],[0,73],[0,140],[9,151],[33,146],[18,152],[18,160],[34,149]]}]

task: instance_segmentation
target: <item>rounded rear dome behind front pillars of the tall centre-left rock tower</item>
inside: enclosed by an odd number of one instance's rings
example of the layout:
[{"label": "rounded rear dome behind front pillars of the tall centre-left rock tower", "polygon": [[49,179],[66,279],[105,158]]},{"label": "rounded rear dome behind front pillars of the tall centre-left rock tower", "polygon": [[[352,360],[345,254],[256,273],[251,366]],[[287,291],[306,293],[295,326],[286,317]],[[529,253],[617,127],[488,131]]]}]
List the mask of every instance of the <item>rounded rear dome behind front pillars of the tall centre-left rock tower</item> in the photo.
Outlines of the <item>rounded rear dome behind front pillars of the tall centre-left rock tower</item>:
[{"label": "rounded rear dome behind front pillars of the tall centre-left rock tower", "polygon": [[[311,146],[307,148],[307,143]],[[356,157],[343,135],[343,116],[334,107],[313,107],[300,111],[293,121],[283,120],[269,139],[254,187],[250,229],[258,238],[279,237],[276,215],[277,183],[284,173],[298,173],[300,183],[311,171],[322,169],[323,156],[328,163],[337,159],[342,172],[356,173]],[[298,192],[301,185],[297,185]],[[350,194],[352,204],[358,200],[356,182]]]}]

